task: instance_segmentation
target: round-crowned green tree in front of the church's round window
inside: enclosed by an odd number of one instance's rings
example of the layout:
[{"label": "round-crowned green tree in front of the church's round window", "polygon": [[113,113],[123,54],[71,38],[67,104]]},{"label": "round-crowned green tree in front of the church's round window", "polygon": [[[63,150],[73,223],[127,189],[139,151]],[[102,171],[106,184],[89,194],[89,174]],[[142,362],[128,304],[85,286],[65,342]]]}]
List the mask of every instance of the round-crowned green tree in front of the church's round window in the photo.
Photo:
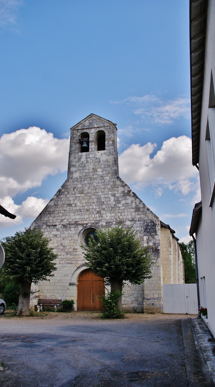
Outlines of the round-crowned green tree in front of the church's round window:
[{"label": "round-crowned green tree in front of the church's round window", "polygon": [[136,232],[122,226],[99,229],[96,235],[98,241],[91,235],[89,247],[85,248],[86,266],[110,281],[111,293],[120,292],[117,307],[121,309],[123,281],[139,285],[150,278],[150,246],[143,247]]}]

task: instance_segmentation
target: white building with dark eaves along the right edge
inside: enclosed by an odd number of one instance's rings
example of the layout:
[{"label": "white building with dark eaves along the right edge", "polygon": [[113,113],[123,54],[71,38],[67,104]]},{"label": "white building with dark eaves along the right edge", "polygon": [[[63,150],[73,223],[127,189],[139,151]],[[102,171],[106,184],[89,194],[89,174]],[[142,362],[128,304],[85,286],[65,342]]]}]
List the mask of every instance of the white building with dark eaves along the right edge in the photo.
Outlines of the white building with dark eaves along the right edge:
[{"label": "white building with dark eaves along the right edge", "polygon": [[196,233],[200,306],[215,336],[215,0],[190,1],[190,61],[193,165],[201,185],[190,235]]}]

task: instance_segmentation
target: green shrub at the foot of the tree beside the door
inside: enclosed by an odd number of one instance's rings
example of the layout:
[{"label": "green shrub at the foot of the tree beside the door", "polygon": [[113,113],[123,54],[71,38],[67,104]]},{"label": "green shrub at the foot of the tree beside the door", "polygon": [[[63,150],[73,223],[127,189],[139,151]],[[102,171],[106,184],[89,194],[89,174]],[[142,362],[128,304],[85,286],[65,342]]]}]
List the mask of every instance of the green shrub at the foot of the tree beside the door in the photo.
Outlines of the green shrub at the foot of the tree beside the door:
[{"label": "green shrub at the foot of the tree beside the door", "polygon": [[119,299],[120,291],[117,290],[113,293],[108,291],[106,296],[102,296],[101,300],[105,307],[105,311],[102,312],[101,319],[124,319],[125,312],[122,312],[119,307],[116,306]]}]

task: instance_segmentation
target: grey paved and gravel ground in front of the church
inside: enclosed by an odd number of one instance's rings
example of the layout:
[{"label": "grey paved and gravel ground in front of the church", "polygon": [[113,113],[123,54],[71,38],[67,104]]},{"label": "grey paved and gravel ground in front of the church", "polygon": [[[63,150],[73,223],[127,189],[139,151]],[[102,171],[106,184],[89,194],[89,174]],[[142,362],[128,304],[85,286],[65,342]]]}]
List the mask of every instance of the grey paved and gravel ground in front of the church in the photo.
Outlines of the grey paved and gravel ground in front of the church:
[{"label": "grey paved and gravel ground in front of the church", "polygon": [[[186,315],[34,313],[0,317],[2,387],[205,386],[191,337],[187,378],[181,319]],[[190,317],[190,316],[189,316]]]}]

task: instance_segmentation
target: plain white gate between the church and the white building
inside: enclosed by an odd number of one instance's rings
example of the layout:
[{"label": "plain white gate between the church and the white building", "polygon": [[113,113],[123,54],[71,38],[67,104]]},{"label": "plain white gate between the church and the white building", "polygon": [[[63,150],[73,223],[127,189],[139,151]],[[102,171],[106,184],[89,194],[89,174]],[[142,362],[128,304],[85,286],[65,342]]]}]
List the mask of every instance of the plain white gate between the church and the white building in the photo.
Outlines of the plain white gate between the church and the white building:
[{"label": "plain white gate between the church and the white building", "polygon": [[163,291],[163,313],[198,313],[196,284],[165,284]]}]

